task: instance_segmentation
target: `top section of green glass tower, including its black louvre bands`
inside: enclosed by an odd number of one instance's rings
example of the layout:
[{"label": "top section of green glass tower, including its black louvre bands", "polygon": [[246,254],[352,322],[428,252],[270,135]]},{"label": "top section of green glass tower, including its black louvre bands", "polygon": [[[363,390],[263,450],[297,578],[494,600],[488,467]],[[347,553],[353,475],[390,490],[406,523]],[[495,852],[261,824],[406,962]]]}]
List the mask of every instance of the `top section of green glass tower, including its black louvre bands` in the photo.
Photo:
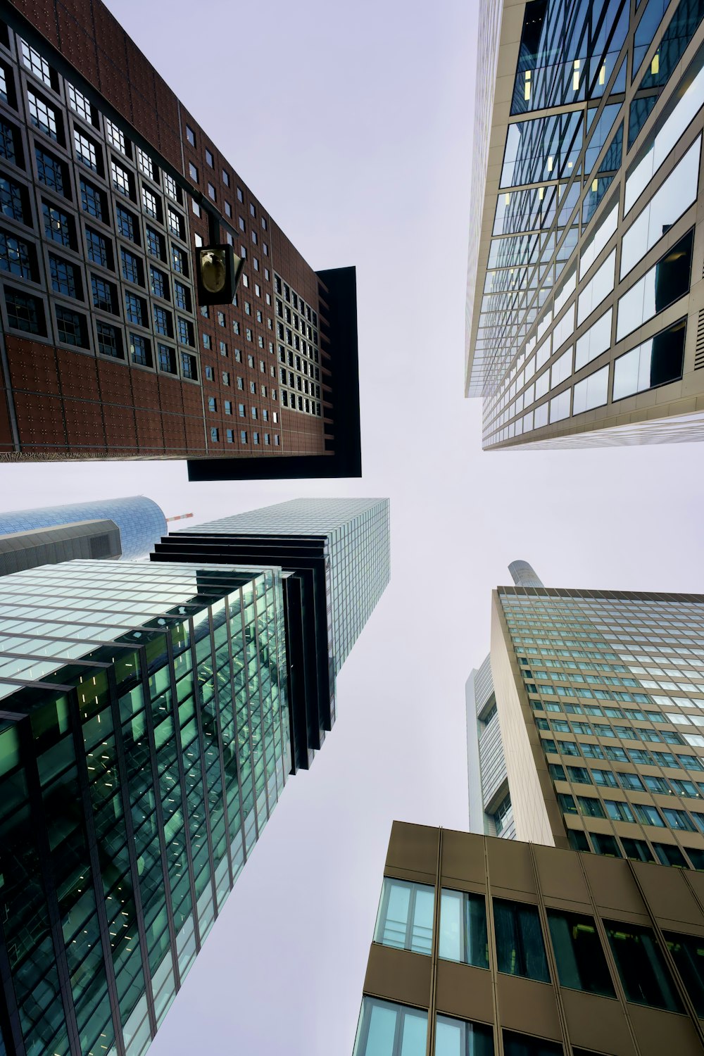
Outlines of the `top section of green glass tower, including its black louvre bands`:
[{"label": "top section of green glass tower, including its black louvre bands", "polygon": [[292,769],[332,729],[336,680],[391,576],[387,498],[297,498],[172,532],[154,561],[282,568]]}]

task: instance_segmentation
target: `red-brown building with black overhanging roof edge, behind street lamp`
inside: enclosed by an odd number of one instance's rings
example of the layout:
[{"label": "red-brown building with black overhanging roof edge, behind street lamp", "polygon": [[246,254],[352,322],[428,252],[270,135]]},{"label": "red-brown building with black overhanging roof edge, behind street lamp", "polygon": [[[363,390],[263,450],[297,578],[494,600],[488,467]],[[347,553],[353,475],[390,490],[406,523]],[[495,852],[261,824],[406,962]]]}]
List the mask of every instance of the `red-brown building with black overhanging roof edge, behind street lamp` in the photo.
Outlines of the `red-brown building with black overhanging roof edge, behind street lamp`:
[{"label": "red-brown building with black overhanging roof edge, behind street lamp", "polygon": [[360,475],[355,269],[306,264],[99,0],[4,5],[0,180],[0,459]]}]

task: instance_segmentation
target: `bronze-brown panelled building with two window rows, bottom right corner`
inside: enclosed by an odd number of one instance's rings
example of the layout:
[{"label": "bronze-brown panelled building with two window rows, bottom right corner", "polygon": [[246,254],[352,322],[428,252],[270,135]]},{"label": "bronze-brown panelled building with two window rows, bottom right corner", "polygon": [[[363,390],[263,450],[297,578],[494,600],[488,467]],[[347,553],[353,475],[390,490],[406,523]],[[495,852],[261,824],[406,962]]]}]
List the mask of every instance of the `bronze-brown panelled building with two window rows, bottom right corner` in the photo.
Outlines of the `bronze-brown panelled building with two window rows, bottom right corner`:
[{"label": "bronze-brown panelled building with two window rows, bottom right corner", "polygon": [[704,878],[395,822],[355,1056],[697,1056]]}]

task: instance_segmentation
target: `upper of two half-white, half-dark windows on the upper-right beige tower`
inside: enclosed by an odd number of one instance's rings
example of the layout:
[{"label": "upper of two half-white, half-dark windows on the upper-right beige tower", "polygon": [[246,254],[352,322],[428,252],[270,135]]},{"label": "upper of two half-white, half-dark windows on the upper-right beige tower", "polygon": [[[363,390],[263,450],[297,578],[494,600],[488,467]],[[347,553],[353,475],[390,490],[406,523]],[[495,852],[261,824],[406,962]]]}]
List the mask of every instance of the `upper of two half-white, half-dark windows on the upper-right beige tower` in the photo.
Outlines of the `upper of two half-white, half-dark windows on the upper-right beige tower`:
[{"label": "upper of two half-white, half-dark windows on the upper-right beige tower", "polygon": [[687,293],[693,237],[692,228],[619,299],[616,341]]}]

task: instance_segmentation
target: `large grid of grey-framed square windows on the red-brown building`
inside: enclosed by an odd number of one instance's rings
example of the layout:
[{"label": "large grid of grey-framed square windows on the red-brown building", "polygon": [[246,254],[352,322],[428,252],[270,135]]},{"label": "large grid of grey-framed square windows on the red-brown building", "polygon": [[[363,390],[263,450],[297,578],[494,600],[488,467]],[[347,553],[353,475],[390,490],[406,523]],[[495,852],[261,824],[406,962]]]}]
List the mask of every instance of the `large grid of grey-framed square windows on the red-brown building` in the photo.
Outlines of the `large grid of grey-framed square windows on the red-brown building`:
[{"label": "large grid of grey-framed square windows on the red-brown building", "polygon": [[7,33],[0,37],[6,324],[198,380],[182,190],[34,45]]}]

